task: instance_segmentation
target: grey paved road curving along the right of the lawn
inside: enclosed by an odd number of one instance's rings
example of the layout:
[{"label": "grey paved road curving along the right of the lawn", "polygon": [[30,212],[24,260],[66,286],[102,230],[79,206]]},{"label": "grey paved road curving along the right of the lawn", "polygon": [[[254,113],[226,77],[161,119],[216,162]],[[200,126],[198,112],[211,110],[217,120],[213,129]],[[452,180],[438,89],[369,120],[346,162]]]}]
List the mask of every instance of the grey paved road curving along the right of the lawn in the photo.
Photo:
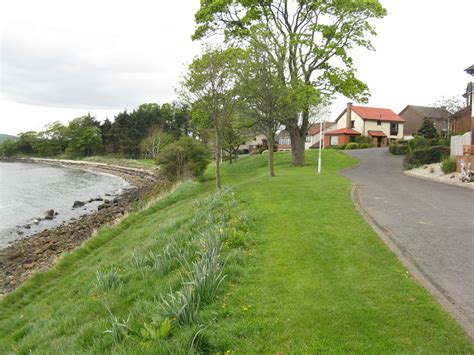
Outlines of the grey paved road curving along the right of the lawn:
[{"label": "grey paved road curving along the right of the lawn", "polygon": [[386,148],[346,152],[362,209],[473,336],[474,191],[408,177]]}]

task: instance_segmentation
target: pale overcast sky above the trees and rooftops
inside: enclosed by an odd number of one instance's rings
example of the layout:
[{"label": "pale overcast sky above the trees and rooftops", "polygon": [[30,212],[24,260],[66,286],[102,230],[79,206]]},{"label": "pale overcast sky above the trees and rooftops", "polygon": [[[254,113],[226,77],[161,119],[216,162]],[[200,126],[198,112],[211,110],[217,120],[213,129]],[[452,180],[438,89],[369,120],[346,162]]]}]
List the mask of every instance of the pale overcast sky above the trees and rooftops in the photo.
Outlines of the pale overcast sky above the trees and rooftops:
[{"label": "pale overcast sky above the trees and rooftops", "polygon": [[[400,112],[461,96],[474,64],[474,1],[380,0],[376,51],[353,52],[370,106]],[[4,1],[0,5],[0,133],[42,130],[87,114],[99,120],[177,99],[200,53],[199,0]],[[331,118],[350,101],[335,97]]]}]

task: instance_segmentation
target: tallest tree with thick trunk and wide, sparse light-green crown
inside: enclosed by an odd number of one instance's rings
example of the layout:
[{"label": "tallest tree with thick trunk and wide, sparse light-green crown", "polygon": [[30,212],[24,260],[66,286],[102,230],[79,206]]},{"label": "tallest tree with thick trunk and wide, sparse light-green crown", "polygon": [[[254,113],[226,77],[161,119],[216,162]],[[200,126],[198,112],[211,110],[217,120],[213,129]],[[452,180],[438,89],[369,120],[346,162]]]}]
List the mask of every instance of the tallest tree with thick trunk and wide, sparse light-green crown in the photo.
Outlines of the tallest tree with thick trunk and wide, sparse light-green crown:
[{"label": "tallest tree with thick trunk and wide, sparse light-green crown", "polygon": [[[304,165],[304,141],[309,127],[310,103],[304,102],[308,87],[321,101],[341,93],[366,102],[368,87],[355,77],[349,51],[372,49],[368,35],[375,35],[369,20],[385,16],[378,0],[228,0],[201,1],[193,39],[224,32],[227,40],[248,42],[253,29],[264,28],[270,45],[261,49],[280,68],[280,80],[299,91],[298,111],[286,121],[294,165]],[[312,96],[312,95],[311,95]]]}]

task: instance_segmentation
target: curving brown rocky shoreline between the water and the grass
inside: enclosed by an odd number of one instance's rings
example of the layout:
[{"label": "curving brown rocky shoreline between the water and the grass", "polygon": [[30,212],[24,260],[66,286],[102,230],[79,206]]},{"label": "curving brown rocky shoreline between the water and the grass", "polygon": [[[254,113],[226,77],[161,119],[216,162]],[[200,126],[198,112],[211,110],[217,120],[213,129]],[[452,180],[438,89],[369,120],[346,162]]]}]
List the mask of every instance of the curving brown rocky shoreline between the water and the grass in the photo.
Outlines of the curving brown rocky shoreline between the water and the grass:
[{"label": "curving brown rocky shoreline between the water and the grass", "polygon": [[99,209],[91,214],[33,234],[0,249],[0,295],[14,290],[36,272],[51,268],[62,253],[77,248],[101,227],[120,221],[132,211],[136,202],[152,194],[158,183],[156,174],[151,170],[39,158],[15,159],[14,161],[104,172],[120,176],[134,187],[113,199],[104,199]]}]

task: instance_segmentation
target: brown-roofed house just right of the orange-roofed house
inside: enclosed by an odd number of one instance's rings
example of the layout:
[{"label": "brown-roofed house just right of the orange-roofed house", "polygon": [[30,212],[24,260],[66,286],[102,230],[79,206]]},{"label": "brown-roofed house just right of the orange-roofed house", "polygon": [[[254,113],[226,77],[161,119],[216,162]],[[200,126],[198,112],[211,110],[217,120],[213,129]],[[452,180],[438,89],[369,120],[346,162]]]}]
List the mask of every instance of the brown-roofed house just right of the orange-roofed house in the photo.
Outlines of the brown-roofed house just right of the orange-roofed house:
[{"label": "brown-roofed house just right of the orange-roofed house", "polygon": [[405,136],[415,136],[425,118],[433,121],[440,136],[452,132],[452,114],[446,107],[407,105],[398,115],[405,120],[403,125]]}]

